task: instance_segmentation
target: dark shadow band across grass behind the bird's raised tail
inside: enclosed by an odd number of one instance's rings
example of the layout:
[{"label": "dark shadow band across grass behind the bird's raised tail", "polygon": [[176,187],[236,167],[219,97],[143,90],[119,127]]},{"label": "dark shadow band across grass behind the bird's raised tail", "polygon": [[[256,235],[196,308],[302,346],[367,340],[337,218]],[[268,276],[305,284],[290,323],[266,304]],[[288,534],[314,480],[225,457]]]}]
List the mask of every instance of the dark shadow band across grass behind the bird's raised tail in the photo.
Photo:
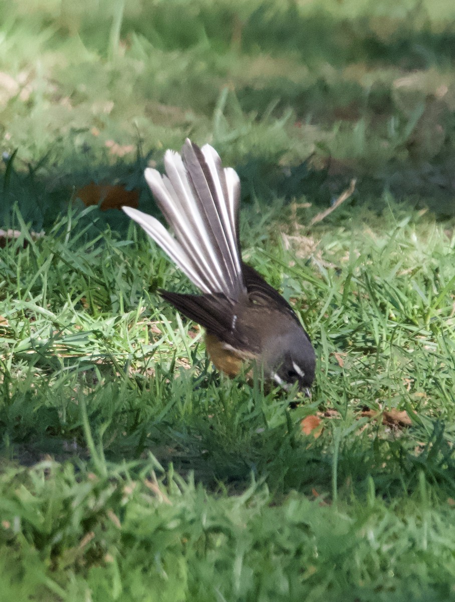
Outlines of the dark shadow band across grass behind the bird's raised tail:
[{"label": "dark shadow band across grass behind the bird's raised tail", "polygon": [[[449,151],[445,152],[444,148],[431,163],[394,159],[376,171],[368,169],[360,160],[338,161],[327,157],[323,161],[325,165],[316,168],[310,157],[301,164],[283,167],[279,163],[279,155],[261,157],[251,154],[244,157],[235,169],[242,182],[243,203],[254,200],[267,206],[276,198],[290,202],[303,196],[315,209],[327,208],[336,194],[347,187],[350,179],[356,178],[356,193],[350,201],[353,205],[370,206],[380,214],[387,206],[386,197],[383,196],[387,191],[397,202],[408,205],[409,209],[427,206],[436,216],[453,217],[455,183],[452,167],[455,156],[452,155]],[[87,170],[79,173],[70,173],[70,167],[67,166],[62,168],[66,176],[58,179],[53,169],[43,176],[34,173],[31,167],[25,173],[8,165],[3,174],[0,172],[3,182],[0,226],[19,229],[14,218],[14,207],[17,206],[23,221],[33,231],[47,231],[61,214],[67,212],[69,205],[84,208],[78,199],[78,190],[90,182],[120,184],[126,191],[138,191],[139,209],[159,217],[143,178],[145,164],[144,159],[138,159],[132,163],[122,161],[115,166],[87,165]],[[79,219],[77,227],[86,228],[90,223],[97,232],[111,228],[124,234],[129,220],[118,209],[96,210],[85,219]]]}]

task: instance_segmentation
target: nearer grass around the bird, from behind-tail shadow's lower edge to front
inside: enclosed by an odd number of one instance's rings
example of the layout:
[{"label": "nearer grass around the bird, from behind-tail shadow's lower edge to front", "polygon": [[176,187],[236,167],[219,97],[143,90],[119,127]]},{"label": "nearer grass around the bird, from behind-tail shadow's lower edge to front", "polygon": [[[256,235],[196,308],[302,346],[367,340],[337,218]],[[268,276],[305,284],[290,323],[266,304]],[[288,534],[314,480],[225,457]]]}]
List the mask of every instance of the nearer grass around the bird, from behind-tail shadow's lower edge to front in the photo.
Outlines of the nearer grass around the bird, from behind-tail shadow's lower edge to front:
[{"label": "nearer grass around the bird, from behind-tail shadow's lower edge to front", "polygon": [[[270,225],[289,229],[275,211]],[[132,226],[134,244],[109,232],[81,244],[67,217],[25,249],[8,245],[8,593],[450,599],[455,240],[399,213],[356,211],[352,228],[347,209],[336,236],[314,228],[310,263],[280,250],[272,226],[264,246],[243,213],[249,261],[275,283],[295,262],[284,292],[307,305],[319,370],[294,410],[293,393],[220,382],[198,329],[156,294],[157,279],[179,288],[183,277]],[[412,426],[382,426],[365,407],[406,409]],[[319,438],[302,433],[302,418],[331,408]]]}]

